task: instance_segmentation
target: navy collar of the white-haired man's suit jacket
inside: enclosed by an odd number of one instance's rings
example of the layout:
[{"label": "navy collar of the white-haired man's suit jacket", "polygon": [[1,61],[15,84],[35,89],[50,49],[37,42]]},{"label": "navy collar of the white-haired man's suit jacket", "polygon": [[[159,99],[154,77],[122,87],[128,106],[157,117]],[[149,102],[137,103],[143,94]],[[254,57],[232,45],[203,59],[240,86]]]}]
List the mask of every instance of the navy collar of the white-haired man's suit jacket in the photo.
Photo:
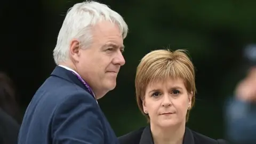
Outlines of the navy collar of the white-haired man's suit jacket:
[{"label": "navy collar of the white-haired man's suit jacket", "polygon": [[[75,83],[76,85],[78,85],[79,87],[81,87],[82,89],[84,89],[85,91],[90,93],[87,90],[87,88],[84,86],[84,84],[81,81],[79,81],[79,79],[76,77],[76,75],[74,75],[70,70],[67,70],[60,66],[56,66],[55,69],[52,71],[51,76],[57,76],[57,77],[66,79],[67,81],[69,81],[71,83]],[[94,98],[93,95],[92,95],[92,97]]]}]

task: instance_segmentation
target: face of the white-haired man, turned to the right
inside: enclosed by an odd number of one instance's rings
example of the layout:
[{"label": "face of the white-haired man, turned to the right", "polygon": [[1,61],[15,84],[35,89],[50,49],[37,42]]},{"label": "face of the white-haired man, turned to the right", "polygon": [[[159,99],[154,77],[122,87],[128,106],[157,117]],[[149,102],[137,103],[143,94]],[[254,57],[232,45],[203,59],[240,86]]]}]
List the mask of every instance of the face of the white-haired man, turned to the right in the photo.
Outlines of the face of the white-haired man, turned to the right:
[{"label": "face of the white-haired man, turned to the right", "polygon": [[79,49],[77,72],[92,87],[97,99],[115,88],[118,71],[125,63],[123,49],[119,27],[109,21],[93,26],[90,47]]}]

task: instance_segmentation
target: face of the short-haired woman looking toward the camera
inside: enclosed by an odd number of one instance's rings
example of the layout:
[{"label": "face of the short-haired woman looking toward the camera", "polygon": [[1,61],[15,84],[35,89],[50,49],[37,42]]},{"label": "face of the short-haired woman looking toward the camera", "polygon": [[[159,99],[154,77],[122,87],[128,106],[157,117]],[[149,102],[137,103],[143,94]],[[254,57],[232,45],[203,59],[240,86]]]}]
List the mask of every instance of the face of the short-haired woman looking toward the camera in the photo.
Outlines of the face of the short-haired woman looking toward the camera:
[{"label": "face of the short-haired woman looking toward the camera", "polygon": [[187,91],[181,78],[152,82],[146,88],[143,110],[151,125],[169,127],[186,123],[192,97],[193,92]]}]

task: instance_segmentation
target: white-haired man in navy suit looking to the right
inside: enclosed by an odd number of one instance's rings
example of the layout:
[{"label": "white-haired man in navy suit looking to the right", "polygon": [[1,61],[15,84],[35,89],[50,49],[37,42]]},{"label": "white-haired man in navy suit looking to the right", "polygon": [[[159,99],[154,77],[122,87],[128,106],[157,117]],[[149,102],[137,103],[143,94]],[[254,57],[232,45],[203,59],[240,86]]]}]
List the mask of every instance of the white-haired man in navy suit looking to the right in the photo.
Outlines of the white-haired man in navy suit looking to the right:
[{"label": "white-haired man in navy suit looking to the right", "polygon": [[53,51],[58,66],[29,103],[20,144],[118,143],[97,99],[116,86],[127,29],[121,15],[97,2],[68,11]]}]

